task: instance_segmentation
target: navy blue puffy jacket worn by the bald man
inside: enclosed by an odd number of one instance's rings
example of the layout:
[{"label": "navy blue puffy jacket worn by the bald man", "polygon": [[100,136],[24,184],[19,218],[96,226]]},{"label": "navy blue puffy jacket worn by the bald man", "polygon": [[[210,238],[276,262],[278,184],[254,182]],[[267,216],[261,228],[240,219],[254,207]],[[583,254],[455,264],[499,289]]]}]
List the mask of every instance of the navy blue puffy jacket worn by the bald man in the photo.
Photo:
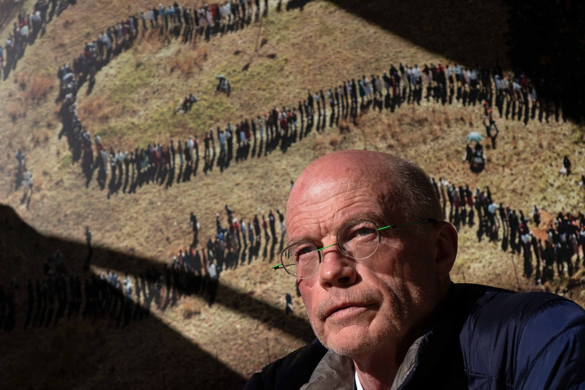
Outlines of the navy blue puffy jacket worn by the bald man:
[{"label": "navy blue puffy jacket worn by the bald man", "polygon": [[[406,389],[585,390],[585,310],[559,295],[452,284]],[[315,340],[252,375],[245,390],[298,390],[326,349]]]}]

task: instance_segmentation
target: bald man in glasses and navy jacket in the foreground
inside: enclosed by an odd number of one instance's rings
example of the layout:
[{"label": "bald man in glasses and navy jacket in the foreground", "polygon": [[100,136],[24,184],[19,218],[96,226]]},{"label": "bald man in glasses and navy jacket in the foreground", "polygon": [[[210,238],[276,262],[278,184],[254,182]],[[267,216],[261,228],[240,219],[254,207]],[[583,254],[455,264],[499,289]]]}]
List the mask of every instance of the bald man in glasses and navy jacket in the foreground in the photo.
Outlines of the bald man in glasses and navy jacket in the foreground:
[{"label": "bald man in glasses and navy jacket in the foreground", "polygon": [[449,278],[457,232],[412,161],[346,150],[290,192],[288,247],[317,340],[245,389],[585,389],[585,311]]}]

